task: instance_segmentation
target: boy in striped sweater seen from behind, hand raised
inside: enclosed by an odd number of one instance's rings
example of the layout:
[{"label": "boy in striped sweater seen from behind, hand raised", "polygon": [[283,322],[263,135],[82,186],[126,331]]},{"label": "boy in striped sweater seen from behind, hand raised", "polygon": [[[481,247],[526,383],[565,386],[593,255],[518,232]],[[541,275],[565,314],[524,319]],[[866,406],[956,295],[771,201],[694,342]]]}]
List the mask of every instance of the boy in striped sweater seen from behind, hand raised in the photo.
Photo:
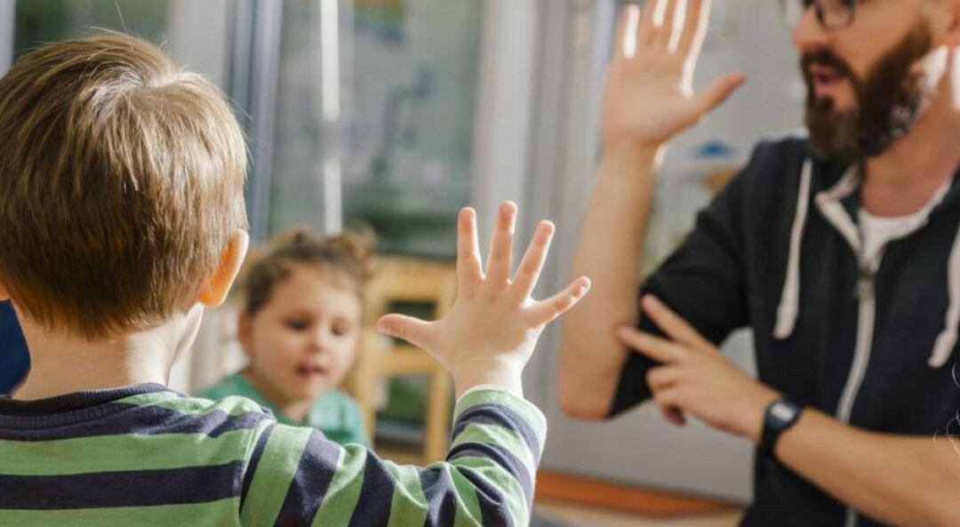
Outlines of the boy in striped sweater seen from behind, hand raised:
[{"label": "boy in striped sweater seen from behind, hand raised", "polygon": [[465,209],[449,314],[379,321],[459,397],[446,462],[400,467],[163,386],[247,249],[243,135],[211,84],[130,36],[49,45],[0,80],[0,137],[0,299],[33,360],[0,398],[0,525],[526,523],[545,421],[520,372],[588,289],[530,299],[549,224],[511,280],[516,207],[486,273]]}]

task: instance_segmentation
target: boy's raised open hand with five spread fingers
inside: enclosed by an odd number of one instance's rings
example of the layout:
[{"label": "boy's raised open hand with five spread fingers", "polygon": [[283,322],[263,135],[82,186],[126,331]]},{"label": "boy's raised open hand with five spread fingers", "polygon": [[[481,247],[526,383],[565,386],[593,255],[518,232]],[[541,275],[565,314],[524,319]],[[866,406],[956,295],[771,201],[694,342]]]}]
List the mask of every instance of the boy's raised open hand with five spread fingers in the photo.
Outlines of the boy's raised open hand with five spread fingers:
[{"label": "boy's raised open hand with five spread fingers", "polygon": [[486,274],[481,267],[476,213],[460,211],[457,232],[457,299],[443,319],[425,322],[387,315],[377,322],[381,332],[429,351],[453,375],[457,394],[492,384],[522,394],[521,373],[543,327],[587,294],[582,276],[562,292],[537,301],[530,297],[553,237],[553,224],[542,221],[510,279],[516,204],[497,211]]}]

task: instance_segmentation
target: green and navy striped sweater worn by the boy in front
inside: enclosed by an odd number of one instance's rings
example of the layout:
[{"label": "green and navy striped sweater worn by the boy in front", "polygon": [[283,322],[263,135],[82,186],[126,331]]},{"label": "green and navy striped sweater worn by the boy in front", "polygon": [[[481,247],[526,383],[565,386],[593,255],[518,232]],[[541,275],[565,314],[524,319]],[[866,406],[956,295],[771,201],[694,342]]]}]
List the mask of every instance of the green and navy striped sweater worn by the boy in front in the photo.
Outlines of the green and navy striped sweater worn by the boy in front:
[{"label": "green and navy striped sweater worn by the boy in front", "polygon": [[543,415],[481,389],[454,417],[446,461],[405,467],[243,397],[0,398],[0,526],[526,525]]}]

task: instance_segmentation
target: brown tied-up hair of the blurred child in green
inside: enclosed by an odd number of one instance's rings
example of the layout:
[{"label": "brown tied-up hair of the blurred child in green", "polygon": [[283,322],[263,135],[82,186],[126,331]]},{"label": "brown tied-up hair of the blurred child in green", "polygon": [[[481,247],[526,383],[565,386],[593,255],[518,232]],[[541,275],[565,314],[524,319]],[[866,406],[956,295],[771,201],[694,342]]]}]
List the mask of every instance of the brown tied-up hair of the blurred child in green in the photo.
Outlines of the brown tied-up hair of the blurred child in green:
[{"label": "brown tied-up hair of the blurred child in green", "polygon": [[320,237],[307,228],[293,228],[251,252],[240,280],[243,308],[255,315],[263,308],[294,265],[314,266],[364,301],[364,289],[373,274],[372,235],[346,233]]}]

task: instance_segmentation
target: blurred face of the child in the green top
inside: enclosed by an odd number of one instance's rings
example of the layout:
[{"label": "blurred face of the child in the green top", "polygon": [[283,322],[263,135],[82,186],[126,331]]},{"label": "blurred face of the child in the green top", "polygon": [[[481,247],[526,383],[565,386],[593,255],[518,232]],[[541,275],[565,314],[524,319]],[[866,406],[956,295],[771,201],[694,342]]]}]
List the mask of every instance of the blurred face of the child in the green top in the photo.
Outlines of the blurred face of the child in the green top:
[{"label": "blurred face of the child in the green top", "polygon": [[362,304],[324,271],[295,265],[270,300],[240,321],[249,373],[276,402],[317,399],[343,381],[360,343]]}]

